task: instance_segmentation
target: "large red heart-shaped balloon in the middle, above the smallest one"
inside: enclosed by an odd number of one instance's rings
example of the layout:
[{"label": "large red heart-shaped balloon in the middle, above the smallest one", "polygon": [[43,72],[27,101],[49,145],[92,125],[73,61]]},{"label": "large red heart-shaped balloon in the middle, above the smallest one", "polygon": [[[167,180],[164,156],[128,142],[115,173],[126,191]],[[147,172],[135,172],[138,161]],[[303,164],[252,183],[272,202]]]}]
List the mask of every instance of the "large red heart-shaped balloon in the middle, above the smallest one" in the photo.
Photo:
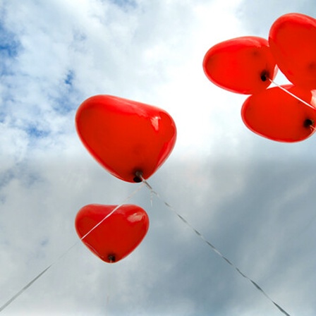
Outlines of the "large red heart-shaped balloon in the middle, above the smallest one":
[{"label": "large red heart-shaped balloon in the middle, above the smallest one", "polygon": [[140,182],[171,154],[176,124],[166,111],[140,102],[96,95],[75,116],[78,135],[97,162],[112,175]]}]

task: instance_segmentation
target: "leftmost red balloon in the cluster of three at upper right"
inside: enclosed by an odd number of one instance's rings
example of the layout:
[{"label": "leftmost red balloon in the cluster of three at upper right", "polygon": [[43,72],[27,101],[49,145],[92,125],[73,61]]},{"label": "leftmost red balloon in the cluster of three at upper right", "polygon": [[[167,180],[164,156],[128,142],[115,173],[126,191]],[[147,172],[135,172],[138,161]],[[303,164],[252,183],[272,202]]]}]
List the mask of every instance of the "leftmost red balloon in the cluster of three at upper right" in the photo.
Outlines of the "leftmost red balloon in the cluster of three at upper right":
[{"label": "leftmost red balloon in the cluster of three at upper right", "polygon": [[214,45],[203,61],[205,75],[231,92],[253,94],[265,90],[277,74],[267,39],[237,37]]}]

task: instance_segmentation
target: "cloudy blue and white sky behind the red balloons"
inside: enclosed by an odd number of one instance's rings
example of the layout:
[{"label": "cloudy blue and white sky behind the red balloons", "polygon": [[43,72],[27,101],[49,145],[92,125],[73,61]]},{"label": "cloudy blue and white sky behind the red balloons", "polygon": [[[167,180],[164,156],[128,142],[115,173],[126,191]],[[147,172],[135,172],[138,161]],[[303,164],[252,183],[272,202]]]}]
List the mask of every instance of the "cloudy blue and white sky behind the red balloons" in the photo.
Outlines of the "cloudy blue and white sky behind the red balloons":
[{"label": "cloudy blue and white sky behind the red balloons", "polygon": [[[282,315],[165,202],[289,315],[316,314],[316,136],[255,135],[246,96],[202,70],[214,44],[267,38],[290,12],[316,17],[314,0],[0,1],[0,306],[53,264],[3,315]],[[174,151],[148,179],[160,199],[133,194],[141,184],[80,142],[75,112],[98,94],[176,122]],[[129,195],[150,229],[109,265],[78,242],[75,215]]]}]

